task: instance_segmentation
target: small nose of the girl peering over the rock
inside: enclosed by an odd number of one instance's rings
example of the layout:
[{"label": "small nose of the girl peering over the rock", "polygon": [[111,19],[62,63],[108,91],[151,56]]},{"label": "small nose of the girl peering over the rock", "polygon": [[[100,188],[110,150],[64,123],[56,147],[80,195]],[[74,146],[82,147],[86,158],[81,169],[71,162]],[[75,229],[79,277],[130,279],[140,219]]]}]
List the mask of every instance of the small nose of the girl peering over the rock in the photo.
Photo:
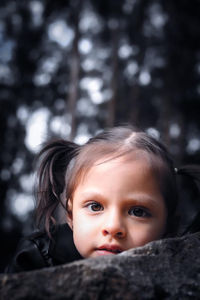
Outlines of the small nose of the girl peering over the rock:
[{"label": "small nose of the girl peering over the rock", "polygon": [[102,226],[102,234],[104,236],[110,235],[115,238],[124,238],[126,236],[126,229],[123,224],[122,217],[117,214],[107,215]]}]

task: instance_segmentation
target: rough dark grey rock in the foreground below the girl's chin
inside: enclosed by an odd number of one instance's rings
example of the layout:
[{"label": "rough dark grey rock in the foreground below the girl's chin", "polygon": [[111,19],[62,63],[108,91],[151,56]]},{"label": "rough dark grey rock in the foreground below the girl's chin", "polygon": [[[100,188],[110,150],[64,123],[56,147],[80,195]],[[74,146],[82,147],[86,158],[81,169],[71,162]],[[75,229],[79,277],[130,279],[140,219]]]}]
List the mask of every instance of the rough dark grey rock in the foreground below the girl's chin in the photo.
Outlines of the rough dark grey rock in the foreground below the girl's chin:
[{"label": "rough dark grey rock in the foreground below the girl's chin", "polygon": [[0,299],[200,299],[200,233],[117,256],[1,274]]}]

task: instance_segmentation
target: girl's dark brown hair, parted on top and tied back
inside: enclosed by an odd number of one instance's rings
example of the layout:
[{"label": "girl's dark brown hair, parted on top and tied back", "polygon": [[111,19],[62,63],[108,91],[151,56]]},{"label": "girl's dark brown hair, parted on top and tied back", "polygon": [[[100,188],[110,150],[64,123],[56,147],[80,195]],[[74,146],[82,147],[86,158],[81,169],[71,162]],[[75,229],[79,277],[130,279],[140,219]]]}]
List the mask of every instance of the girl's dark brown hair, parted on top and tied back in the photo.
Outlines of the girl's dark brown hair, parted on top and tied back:
[{"label": "girl's dark brown hair, parted on top and tied back", "polygon": [[174,231],[175,212],[178,202],[176,172],[174,163],[166,147],[147,133],[133,127],[114,127],[104,130],[91,138],[85,145],[57,140],[44,146],[39,153],[40,167],[37,188],[37,220],[44,222],[49,233],[55,223],[56,208],[63,205],[64,193],[67,207],[69,198],[73,198],[81,176],[99,159],[113,159],[133,151],[147,155],[152,170],[158,179],[164,197],[168,219],[166,235]]}]

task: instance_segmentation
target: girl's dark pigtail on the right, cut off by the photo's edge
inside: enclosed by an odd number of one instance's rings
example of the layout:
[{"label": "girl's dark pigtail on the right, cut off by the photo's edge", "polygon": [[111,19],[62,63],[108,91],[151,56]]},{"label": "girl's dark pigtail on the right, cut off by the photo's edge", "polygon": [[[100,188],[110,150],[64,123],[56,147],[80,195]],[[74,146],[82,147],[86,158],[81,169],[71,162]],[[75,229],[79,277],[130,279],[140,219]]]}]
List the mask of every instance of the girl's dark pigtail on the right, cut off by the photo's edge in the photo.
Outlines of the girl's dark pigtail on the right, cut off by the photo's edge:
[{"label": "girl's dark pigtail on the right, cut off by the photo's edge", "polygon": [[[200,198],[200,166],[199,165],[186,165],[180,167],[175,170],[178,175],[183,175],[184,177],[191,179],[195,186],[198,189],[198,194]],[[200,199],[198,199],[200,201]],[[187,226],[184,230],[183,234],[194,233],[200,231],[200,211],[197,212],[195,218],[193,219],[192,223]]]}]

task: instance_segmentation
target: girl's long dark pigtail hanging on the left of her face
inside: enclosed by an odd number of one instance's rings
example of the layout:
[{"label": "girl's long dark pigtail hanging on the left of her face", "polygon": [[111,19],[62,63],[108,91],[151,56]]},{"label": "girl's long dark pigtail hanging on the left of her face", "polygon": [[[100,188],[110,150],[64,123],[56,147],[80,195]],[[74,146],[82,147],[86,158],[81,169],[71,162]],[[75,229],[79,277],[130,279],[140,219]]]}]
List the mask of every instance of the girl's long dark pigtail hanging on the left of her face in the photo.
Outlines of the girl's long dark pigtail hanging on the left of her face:
[{"label": "girl's long dark pigtail hanging on the left of her face", "polygon": [[36,186],[36,224],[44,225],[50,235],[50,226],[56,223],[55,212],[64,206],[61,194],[65,187],[65,174],[79,146],[65,140],[48,142],[38,154],[39,167]]}]

